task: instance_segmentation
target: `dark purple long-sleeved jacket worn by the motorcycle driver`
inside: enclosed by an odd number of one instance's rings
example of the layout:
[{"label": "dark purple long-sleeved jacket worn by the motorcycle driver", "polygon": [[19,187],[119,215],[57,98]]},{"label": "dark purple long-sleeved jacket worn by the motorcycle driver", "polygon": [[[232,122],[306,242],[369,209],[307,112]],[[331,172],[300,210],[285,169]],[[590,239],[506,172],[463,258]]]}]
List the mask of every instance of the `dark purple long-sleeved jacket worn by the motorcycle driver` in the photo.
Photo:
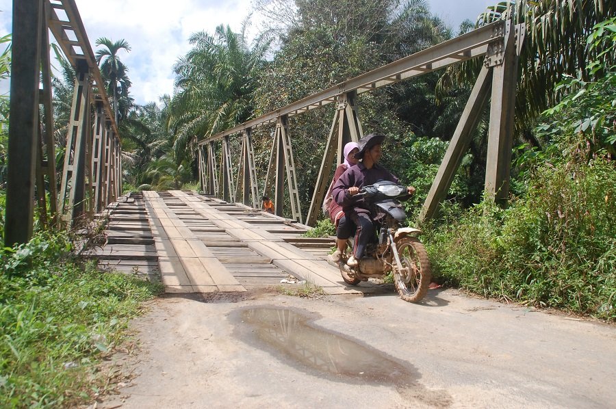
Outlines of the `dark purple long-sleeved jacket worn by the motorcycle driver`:
[{"label": "dark purple long-sleeved jacket worn by the motorcycle driver", "polygon": [[349,196],[347,189],[353,186],[361,188],[363,186],[373,185],[378,181],[392,181],[400,184],[396,176],[382,166],[378,166],[377,163],[375,163],[372,168],[367,169],[363,166],[363,163],[360,162],[357,166],[348,168],[348,170],[338,178],[333,189],[331,189],[331,196],[338,205],[342,206],[344,213],[350,213],[352,211],[370,213],[370,209],[365,203],[365,200],[363,200],[363,197]]}]

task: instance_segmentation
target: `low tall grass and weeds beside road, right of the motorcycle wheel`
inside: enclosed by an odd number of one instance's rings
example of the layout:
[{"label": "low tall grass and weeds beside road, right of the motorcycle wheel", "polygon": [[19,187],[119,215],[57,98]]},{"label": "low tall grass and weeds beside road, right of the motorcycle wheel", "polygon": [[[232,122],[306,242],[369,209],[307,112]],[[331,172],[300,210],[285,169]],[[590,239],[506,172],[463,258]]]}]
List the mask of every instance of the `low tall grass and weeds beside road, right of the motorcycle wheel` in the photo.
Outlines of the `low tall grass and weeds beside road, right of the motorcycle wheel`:
[{"label": "low tall grass and weeds beside road, right of the motorcycle wheel", "polygon": [[486,297],[616,320],[616,166],[581,157],[537,169],[503,210],[485,200],[428,237],[442,278]]}]

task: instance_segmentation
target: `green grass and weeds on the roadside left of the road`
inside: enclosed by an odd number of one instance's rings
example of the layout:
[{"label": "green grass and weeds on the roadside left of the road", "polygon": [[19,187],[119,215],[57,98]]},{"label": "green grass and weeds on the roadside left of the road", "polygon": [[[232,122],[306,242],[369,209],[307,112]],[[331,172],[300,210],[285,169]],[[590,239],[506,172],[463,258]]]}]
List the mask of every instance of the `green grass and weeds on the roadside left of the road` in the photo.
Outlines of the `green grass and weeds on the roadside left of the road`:
[{"label": "green grass and weeds on the roadside left of the road", "polygon": [[0,255],[0,407],[71,406],[100,392],[94,365],[158,291],[70,250],[65,233],[38,233]]}]

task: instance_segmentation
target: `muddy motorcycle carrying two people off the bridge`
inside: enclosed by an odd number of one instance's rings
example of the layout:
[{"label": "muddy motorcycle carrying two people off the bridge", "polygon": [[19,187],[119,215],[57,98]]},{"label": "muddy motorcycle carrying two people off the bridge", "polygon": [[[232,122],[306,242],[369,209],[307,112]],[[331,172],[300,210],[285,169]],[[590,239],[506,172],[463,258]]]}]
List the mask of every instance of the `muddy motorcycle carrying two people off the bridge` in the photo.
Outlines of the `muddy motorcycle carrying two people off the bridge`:
[{"label": "muddy motorcycle carrying two people off the bridge", "polygon": [[364,186],[356,196],[363,196],[370,205],[377,235],[366,246],[365,254],[355,268],[346,262],[350,254],[342,254],[338,263],[342,279],[359,285],[368,278],[383,278],[393,272],[394,285],[402,300],[419,302],[428,291],[432,269],[428,253],[418,239],[421,230],[403,227],[407,215],[398,199],[408,198],[407,188],[394,182],[381,181]]}]

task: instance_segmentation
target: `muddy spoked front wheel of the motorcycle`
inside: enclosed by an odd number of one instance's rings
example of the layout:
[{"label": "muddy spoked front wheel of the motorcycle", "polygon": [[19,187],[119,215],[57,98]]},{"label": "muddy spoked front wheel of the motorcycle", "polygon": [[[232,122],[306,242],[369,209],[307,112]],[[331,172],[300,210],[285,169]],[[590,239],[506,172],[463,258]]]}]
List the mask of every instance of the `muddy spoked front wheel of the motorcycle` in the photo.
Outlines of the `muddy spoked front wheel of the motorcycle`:
[{"label": "muddy spoked front wheel of the motorcycle", "polygon": [[418,302],[428,291],[432,268],[424,245],[415,237],[404,237],[398,241],[402,270],[394,267],[394,284],[402,300]]}]

